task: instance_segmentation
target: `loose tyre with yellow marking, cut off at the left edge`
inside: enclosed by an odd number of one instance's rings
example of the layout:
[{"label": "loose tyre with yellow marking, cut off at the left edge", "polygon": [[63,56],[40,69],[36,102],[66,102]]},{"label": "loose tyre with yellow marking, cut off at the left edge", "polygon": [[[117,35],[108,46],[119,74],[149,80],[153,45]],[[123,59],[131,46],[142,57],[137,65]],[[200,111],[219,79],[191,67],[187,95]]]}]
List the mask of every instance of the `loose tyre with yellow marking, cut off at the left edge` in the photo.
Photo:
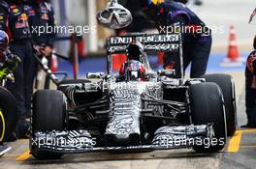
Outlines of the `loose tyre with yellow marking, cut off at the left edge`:
[{"label": "loose tyre with yellow marking, cut off at the left edge", "polygon": [[[3,114],[2,130],[3,134],[0,135],[1,141],[8,141],[12,137],[16,129],[17,123],[17,104],[15,97],[7,89],[0,87],[0,111]],[[5,125],[5,127],[3,127]]]}]

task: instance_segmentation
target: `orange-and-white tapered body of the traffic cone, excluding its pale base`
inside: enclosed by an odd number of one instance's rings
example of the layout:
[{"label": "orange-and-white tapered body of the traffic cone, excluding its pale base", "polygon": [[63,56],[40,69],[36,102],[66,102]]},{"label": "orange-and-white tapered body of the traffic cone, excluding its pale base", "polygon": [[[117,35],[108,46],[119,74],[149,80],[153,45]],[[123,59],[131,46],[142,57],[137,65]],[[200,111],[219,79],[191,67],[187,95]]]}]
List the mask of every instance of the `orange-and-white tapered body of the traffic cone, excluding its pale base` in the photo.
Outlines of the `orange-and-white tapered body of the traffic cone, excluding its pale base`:
[{"label": "orange-and-white tapered body of the traffic cone, excluding its pale base", "polygon": [[228,50],[228,58],[231,61],[239,61],[240,52],[239,46],[237,44],[237,35],[235,32],[235,28],[233,25],[230,26],[230,42],[229,42],[229,50]]}]

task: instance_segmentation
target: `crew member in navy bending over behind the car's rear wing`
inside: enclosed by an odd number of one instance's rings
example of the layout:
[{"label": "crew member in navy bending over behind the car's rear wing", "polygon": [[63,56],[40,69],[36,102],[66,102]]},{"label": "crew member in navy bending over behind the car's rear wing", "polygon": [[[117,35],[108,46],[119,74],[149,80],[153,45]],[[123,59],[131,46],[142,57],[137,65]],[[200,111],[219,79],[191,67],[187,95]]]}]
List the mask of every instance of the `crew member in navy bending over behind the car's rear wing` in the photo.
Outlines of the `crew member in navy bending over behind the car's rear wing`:
[{"label": "crew member in navy bending over behind the car's rear wing", "polygon": [[[207,25],[184,4],[171,0],[140,0],[141,9],[155,22],[160,34],[180,33],[182,36],[183,69],[191,63],[191,78],[206,73],[211,49],[211,33]],[[181,77],[179,53],[166,53],[164,69],[176,70]]]}]

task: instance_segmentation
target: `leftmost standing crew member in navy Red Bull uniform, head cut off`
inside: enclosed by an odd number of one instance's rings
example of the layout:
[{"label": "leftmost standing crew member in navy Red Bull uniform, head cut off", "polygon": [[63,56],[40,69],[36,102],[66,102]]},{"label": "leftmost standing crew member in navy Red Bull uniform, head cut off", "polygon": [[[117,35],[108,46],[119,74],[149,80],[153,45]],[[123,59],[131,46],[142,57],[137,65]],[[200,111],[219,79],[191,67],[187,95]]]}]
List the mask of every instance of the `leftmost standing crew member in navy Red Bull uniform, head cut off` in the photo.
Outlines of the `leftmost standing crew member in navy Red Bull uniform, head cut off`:
[{"label": "leftmost standing crew member in navy Red Bull uniform, head cut off", "polygon": [[24,2],[21,0],[8,1],[7,15],[1,22],[1,30],[8,33],[10,38],[10,50],[17,55],[21,62],[14,71],[15,83],[8,82],[7,88],[12,92],[17,101],[18,122],[16,134],[18,138],[24,138],[28,130],[29,123],[25,121],[25,116],[30,114],[34,59],[32,57],[31,34],[28,25],[28,14],[24,9]]}]

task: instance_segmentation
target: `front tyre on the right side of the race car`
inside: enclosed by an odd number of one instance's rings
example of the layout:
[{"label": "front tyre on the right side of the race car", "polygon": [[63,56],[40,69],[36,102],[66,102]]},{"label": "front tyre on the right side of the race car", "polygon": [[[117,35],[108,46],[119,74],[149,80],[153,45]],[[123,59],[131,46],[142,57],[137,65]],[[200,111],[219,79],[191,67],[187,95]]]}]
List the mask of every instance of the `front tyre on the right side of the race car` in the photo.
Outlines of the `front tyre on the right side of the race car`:
[{"label": "front tyre on the right side of the race car", "polygon": [[[214,145],[194,145],[198,153],[214,153],[221,151],[227,140],[225,108],[223,96],[215,83],[199,83],[190,86],[190,109],[193,125],[213,124]],[[214,139],[214,140],[213,140]],[[217,141],[217,142],[216,142]]]}]

